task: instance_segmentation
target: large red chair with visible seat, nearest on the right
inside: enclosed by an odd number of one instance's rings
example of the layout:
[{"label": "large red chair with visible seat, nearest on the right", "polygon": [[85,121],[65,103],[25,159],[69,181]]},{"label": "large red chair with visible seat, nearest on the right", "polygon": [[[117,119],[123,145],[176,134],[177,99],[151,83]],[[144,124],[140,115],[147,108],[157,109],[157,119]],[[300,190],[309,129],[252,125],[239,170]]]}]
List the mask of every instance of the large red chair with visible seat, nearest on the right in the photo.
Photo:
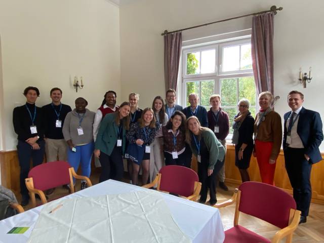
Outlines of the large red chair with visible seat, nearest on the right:
[{"label": "large red chair with visible seat, nearest on the right", "polygon": [[[301,212],[296,210],[294,198],[287,192],[261,182],[244,182],[235,190],[231,199],[215,208],[222,208],[236,201],[234,227],[225,231],[224,242],[279,242],[287,236],[286,243],[292,242],[293,232],[297,228]],[[262,219],[281,228],[272,240],[258,235],[238,225],[239,212]]]}]

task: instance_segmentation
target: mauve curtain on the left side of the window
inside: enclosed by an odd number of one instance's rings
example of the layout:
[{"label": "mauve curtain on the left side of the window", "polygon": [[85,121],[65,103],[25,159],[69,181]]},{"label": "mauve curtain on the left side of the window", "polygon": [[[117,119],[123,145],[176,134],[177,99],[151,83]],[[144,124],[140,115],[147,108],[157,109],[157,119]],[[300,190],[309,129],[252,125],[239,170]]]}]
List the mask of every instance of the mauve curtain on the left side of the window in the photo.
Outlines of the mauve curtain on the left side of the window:
[{"label": "mauve curtain on the left side of the window", "polygon": [[177,91],[177,79],[181,57],[182,33],[164,36],[164,76],[166,90]]}]

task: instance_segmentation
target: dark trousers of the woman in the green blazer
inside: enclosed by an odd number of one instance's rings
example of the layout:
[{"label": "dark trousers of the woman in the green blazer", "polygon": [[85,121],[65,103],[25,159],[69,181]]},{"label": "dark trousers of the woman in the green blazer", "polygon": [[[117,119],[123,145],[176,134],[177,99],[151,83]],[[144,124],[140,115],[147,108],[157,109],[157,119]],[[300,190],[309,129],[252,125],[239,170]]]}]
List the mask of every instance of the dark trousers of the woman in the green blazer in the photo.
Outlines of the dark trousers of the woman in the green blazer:
[{"label": "dark trousers of the woman in the green blazer", "polygon": [[114,147],[110,156],[100,151],[99,161],[101,164],[101,175],[99,183],[108,179],[121,181],[123,179],[124,164],[121,147]]}]

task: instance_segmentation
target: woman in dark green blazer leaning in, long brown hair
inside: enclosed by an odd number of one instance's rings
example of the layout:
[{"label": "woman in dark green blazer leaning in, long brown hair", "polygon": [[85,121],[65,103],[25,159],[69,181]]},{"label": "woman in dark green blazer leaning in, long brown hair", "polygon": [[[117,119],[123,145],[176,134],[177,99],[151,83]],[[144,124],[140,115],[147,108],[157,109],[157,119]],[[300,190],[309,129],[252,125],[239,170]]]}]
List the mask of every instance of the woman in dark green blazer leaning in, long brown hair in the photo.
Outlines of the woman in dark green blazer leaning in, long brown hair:
[{"label": "woman in dark green blazer leaning in, long brown hair", "polygon": [[119,110],[107,114],[100,123],[96,143],[95,156],[101,164],[99,182],[108,179],[120,181],[123,178],[123,154],[126,147],[126,131],[130,125],[131,106],[123,102]]}]

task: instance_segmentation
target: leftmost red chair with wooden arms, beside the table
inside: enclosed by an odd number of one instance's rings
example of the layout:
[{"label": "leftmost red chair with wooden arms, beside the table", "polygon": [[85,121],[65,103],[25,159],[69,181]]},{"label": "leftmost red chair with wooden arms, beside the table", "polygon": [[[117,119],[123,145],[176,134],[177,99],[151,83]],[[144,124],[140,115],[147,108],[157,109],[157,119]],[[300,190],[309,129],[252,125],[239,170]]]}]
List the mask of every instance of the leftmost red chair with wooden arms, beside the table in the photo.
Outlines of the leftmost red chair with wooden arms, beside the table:
[{"label": "leftmost red chair with wooden arms, beside the table", "polygon": [[72,177],[85,180],[88,186],[92,186],[88,177],[77,175],[73,167],[66,161],[53,161],[32,168],[28,173],[28,178],[25,179],[26,187],[30,192],[32,207],[36,206],[35,193],[41,197],[42,204],[47,203],[43,191],[48,189],[69,184],[71,193],[74,193]]}]

